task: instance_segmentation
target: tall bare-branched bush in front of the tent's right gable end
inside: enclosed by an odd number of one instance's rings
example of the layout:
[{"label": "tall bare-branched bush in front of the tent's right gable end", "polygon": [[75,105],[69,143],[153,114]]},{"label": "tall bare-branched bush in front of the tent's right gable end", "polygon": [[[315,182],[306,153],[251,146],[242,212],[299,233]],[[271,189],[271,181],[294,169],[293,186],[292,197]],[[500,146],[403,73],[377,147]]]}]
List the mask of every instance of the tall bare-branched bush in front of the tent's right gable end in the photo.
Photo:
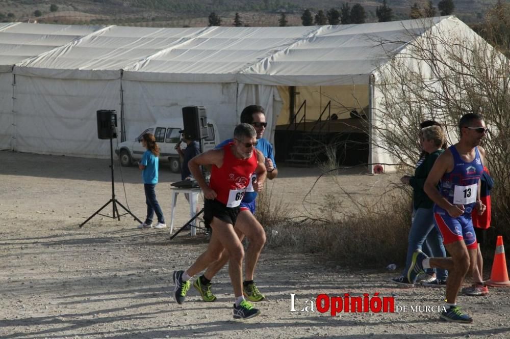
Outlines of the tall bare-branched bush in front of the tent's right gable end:
[{"label": "tall bare-branched bush in front of the tent's right gable end", "polygon": [[[498,6],[504,10],[490,11],[483,26],[484,36],[490,37],[494,45],[472,32],[436,26],[419,36],[409,30],[409,36],[398,42],[408,41],[404,50],[381,56],[390,60],[381,69],[377,83],[382,94],[377,115],[384,124],[372,128],[380,140],[377,146],[411,167],[417,159],[415,140],[421,121],[441,122],[453,144],[459,136],[460,117],[468,112],[481,114],[491,130],[483,147],[496,182],[492,192],[493,227],[508,243],[510,62],[504,53],[510,46],[510,19],[504,13],[510,13],[510,4]],[[379,41],[388,50],[395,42]],[[495,239],[491,238],[493,243]]]}]

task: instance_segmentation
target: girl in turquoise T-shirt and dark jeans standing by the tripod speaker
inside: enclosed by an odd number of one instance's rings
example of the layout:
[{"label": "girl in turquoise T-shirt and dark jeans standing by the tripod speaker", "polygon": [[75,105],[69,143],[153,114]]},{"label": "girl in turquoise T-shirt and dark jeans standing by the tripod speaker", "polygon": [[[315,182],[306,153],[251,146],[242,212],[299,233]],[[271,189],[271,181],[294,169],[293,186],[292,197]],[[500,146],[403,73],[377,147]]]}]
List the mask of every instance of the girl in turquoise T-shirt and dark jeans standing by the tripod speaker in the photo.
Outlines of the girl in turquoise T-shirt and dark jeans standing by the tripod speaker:
[{"label": "girl in turquoise T-shirt and dark jeans standing by the tripod speaker", "polygon": [[156,200],[156,184],[158,183],[159,166],[159,146],[156,144],[156,138],[150,133],[142,136],[142,146],[147,150],[143,153],[142,160],[138,163],[138,168],[142,170],[143,188],[145,190],[145,203],[147,204],[147,217],[145,221],[138,226],[139,229],[151,229],[152,217],[154,212],[158,216],[158,223],[155,229],[164,229],[166,227],[163,211]]}]

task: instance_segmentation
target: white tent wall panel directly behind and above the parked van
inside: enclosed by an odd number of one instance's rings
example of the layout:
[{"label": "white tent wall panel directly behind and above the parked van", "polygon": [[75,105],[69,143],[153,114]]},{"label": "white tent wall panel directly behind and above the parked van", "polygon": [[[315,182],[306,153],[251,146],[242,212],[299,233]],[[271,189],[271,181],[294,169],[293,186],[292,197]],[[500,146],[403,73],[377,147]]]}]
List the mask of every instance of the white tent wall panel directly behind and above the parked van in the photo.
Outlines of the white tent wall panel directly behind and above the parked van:
[{"label": "white tent wall panel directly behind and above the parked van", "polygon": [[173,83],[122,79],[126,139],[134,139],[158,119],[181,118],[184,106],[206,106],[220,138],[236,125],[237,84]]}]

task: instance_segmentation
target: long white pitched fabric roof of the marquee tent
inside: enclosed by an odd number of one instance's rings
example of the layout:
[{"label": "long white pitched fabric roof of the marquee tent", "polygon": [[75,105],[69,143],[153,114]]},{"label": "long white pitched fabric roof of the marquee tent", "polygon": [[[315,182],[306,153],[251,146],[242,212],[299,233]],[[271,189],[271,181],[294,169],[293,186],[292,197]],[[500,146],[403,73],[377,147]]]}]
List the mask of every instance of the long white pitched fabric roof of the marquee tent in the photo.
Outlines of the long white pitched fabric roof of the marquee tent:
[{"label": "long white pitched fabric roof of the marquee tent", "polygon": [[[156,29],[17,23],[0,26],[0,44],[11,47],[0,49],[0,67],[14,63],[16,74],[60,78],[119,78],[122,70],[124,79],[143,81],[366,84],[386,62],[387,53],[377,41],[398,41],[385,45],[386,51],[397,53],[406,42],[445,21],[467,27],[453,16],[306,27]],[[27,52],[8,59],[18,37],[25,39]]]}]

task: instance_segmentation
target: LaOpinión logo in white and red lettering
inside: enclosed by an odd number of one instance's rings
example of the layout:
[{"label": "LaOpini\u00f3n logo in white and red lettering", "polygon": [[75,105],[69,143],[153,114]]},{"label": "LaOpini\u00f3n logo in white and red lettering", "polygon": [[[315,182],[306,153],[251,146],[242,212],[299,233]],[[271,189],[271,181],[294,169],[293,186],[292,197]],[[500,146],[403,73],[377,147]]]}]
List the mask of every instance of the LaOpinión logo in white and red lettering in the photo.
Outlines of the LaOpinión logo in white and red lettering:
[{"label": "LaOpini\u00f3n logo in white and red lettering", "polygon": [[317,298],[305,300],[296,309],[296,293],[290,293],[290,312],[320,312],[329,314],[335,317],[337,313],[393,313],[395,312],[395,297],[379,297],[379,292],[375,292],[373,296],[364,293],[362,296],[351,297],[349,293],[345,293],[343,297],[333,296],[327,294],[319,294]]}]

